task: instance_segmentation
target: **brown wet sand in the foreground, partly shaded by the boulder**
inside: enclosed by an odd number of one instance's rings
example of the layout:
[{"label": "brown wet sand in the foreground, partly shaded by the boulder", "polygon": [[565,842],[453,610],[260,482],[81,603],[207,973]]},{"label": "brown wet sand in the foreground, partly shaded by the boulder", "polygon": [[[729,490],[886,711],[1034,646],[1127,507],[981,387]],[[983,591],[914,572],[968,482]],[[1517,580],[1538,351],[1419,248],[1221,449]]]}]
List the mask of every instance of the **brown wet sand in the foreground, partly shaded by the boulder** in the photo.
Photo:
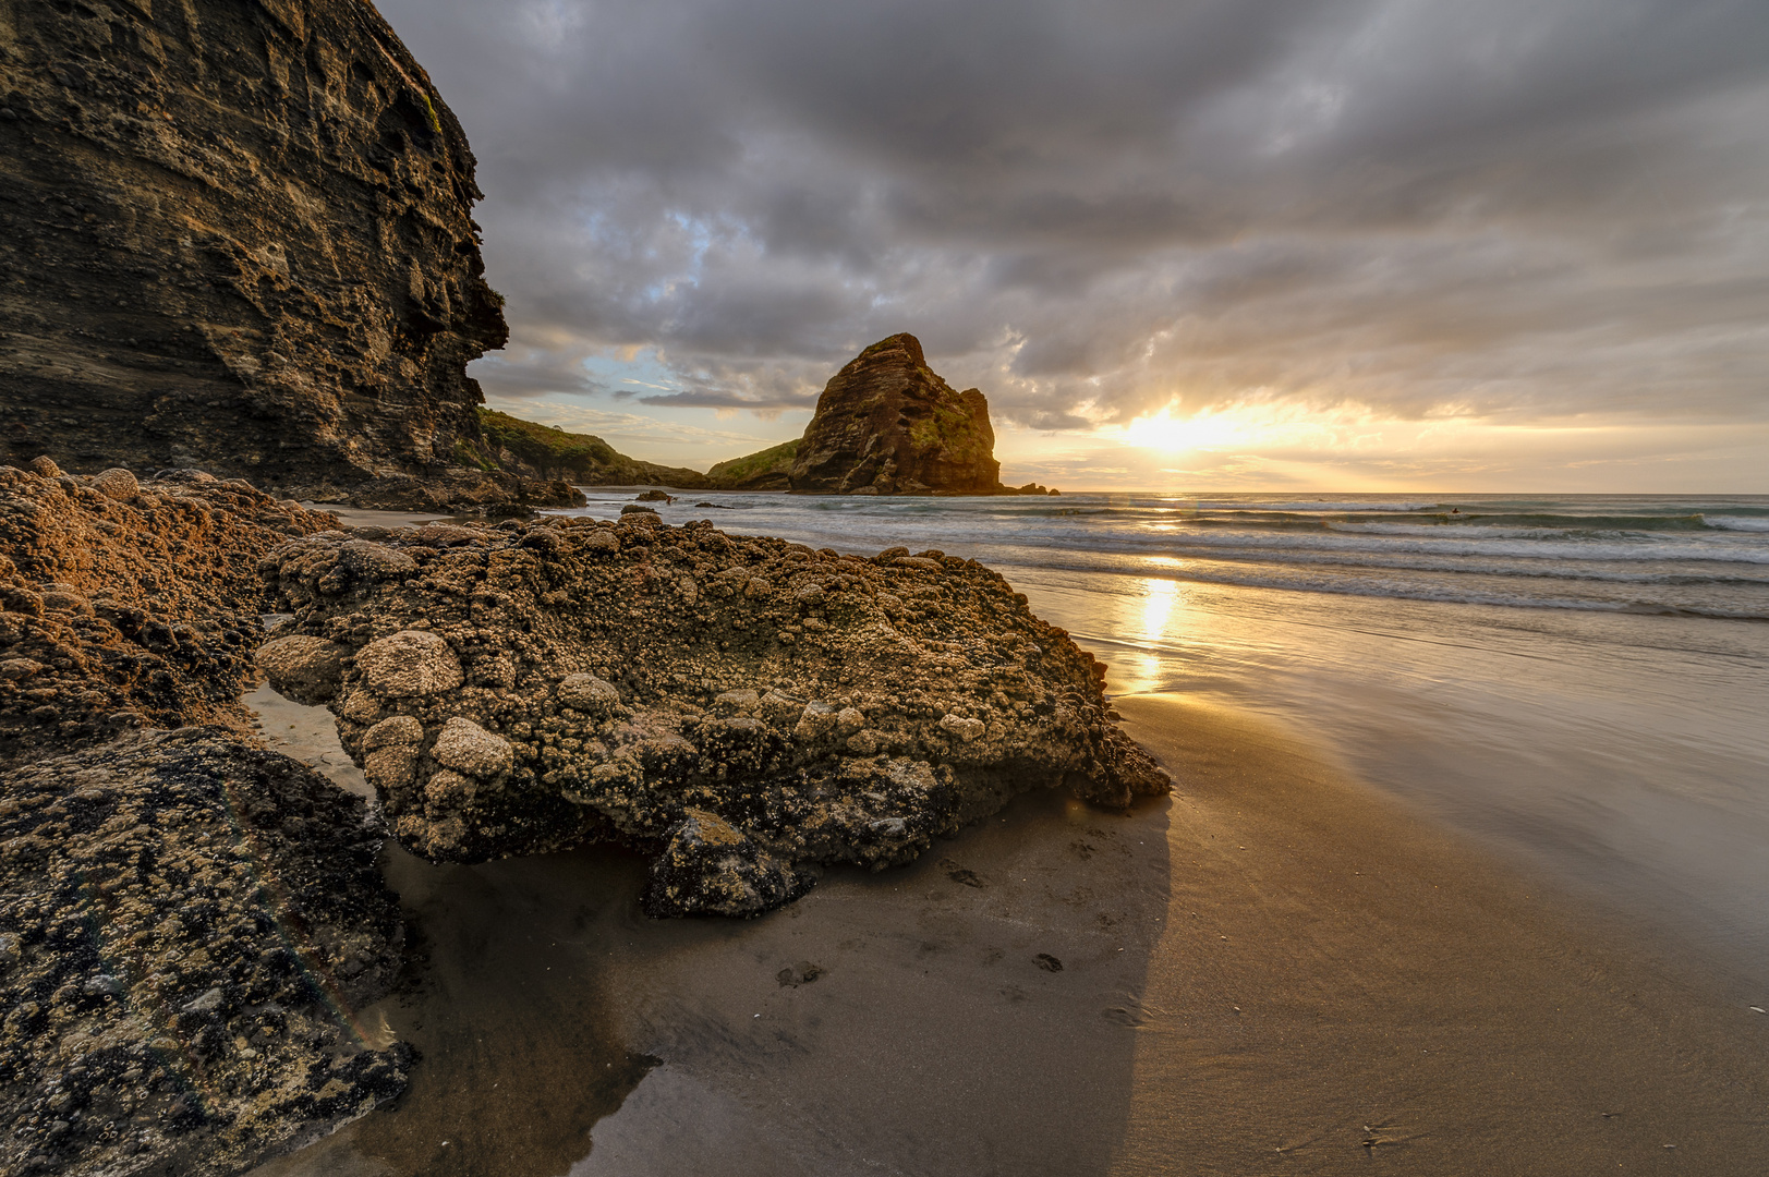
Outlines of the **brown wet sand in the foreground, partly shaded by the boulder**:
[{"label": "brown wet sand in the foreground, partly shaded by the boulder", "polygon": [[1173,798],[1028,796],[752,922],[646,920],[605,848],[389,850],[426,982],[366,1021],[425,1060],[258,1177],[1769,1166],[1769,1016],[1728,981],[1270,720],[1116,704]]}]

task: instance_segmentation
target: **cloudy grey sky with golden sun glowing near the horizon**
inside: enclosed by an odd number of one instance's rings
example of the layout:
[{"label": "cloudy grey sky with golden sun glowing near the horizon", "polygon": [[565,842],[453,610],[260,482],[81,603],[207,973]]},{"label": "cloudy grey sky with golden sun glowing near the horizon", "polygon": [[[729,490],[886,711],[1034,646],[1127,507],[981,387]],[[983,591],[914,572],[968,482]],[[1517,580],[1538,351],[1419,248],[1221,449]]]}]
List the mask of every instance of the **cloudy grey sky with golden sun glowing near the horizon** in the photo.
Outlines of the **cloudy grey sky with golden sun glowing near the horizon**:
[{"label": "cloudy grey sky with golden sun glowing near the horizon", "polygon": [[380,0],[486,404],[706,469],[862,347],[1003,480],[1769,492],[1764,0]]}]

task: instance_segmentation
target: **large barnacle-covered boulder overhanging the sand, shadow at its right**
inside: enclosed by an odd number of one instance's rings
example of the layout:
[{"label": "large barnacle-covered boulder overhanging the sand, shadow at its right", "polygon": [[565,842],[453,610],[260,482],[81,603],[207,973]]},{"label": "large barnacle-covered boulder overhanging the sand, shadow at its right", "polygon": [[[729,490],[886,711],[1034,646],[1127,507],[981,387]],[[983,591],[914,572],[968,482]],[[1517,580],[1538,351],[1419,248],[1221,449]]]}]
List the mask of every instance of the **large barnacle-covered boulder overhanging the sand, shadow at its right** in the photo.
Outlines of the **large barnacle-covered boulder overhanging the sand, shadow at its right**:
[{"label": "large barnacle-covered boulder overhanging the sand, shadow at its right", "polygon": [[[364,540],[368,540],[364,543]],[[660,851],[653,913],[750,915],[824,862],[906,862],[1012,795],[1166,791],[1104,667],[998,573],[548,519],[310,536],[260,565],[258,655],[325,703],[402,844]]]}]

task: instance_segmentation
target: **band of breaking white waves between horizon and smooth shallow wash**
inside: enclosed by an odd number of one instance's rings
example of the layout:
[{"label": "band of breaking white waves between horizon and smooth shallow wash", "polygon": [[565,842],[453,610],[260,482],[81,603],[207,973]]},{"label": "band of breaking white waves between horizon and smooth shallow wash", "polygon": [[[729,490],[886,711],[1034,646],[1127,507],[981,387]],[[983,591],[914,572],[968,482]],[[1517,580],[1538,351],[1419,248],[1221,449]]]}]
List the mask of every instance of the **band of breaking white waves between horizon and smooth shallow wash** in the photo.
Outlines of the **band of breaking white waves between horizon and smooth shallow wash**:
[{"label": "band of breaking white waves between horizon and smooth shallow wash", "polygon": [[[591,488],[587,513],[630,492]],[[708,496],[718,524],[1049,568],[1505,609],[1769,619],[1764,496]],[[693,519],[695,508],[665,506]]]}]

